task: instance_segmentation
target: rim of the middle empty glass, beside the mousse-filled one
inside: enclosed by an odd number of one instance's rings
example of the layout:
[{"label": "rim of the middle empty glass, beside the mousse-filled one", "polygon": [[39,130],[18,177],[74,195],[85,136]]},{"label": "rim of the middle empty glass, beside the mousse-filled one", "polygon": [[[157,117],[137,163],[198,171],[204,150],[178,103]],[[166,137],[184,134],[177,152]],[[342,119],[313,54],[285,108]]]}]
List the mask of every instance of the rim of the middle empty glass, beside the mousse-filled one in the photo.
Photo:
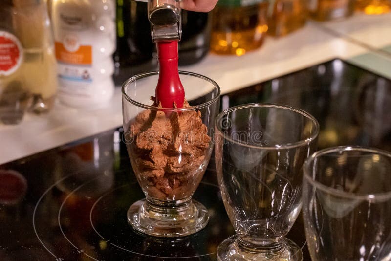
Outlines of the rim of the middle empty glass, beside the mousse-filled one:
[{"label": "rim of the middle empty glass, beside the mousse-filled one", "polygon": [[[232,112],[234,110],[254,108],[254,107],[286,109],[286,110],[290,110],[290,111],[299,113],[299,114],[303,115],[304,117],[306,117],[307,119],[309,119],[314,124],[315,131],[314,131],[314,133],[311,134],[310,137],[308,137],[308,138],[306,138],[304,140],[299,140],[299,141],[292,142],[292,143],[276,144],[274,146],[267,146],[267,145],[266,146],[263,146],[263,145],[259,146],[259,145],[245,144],[245,143],[242,143],[240,141],[233,140],[230,137],[227,137],[226,133],[224,133],[224,131],[222,131],[221,128],[217,124],[218,122],[220,122],[220,120],[223,118],[224,115],[227,115],[228,113],[230,113],[230,112]],[[315,119],[314,116],[312,116],[308,112],[306,112],[306,111],[304,111],[302,109],[297,109],[297,108],[288,106],[288,105],[275,104],[275,103],[247,103],[247,104],[242,104],[242,105],[237,105],[237,106],[230,107],[230,108],[225,109],[224,111],[220,112],[217,115],[217,117],[215,119],[215,127],[216,127],[216,129],[219,132],[223,133],[224,139],[226,139],[226,140],[228,140],[228,141],[230,141],[232,143],[235,143],[235,144],[238,144],[238,145],[241,145],[241,146],[244,146],[244,147],[248,147],[248,148],[263,149],[263,150],[285,150],[285,149],[291,149],[291,148],[300,147],[300,146],[302,146],[304,144],[308,144],[308,143],[313,142],[314,140],[316,140],[316,138],[318,137],[318,134],[319,134],[319,130],[320,130],[318,121]]]}]

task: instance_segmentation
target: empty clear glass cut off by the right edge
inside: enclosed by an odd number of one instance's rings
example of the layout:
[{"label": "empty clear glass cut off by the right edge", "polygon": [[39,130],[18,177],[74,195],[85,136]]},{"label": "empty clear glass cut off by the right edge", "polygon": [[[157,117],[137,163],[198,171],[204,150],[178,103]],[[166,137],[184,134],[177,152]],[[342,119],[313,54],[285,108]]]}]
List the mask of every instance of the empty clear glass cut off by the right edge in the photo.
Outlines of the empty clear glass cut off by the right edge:
[{"label": "empty clear glass cut off by the right edge", "polygon": [[305,235],[314,261],[391,260],[391,154],[328,148],[304,164]]}]

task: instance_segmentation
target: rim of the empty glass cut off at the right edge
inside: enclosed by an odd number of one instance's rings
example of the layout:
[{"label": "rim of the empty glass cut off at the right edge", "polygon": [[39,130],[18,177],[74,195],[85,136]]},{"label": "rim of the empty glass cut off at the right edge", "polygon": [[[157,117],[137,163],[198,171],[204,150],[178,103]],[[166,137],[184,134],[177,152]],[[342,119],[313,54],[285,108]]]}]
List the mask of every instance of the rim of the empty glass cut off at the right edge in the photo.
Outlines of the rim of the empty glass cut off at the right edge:
[{"label": "rim of the empty glass cut off at the right edge", "polygon": [[347,191],[341,191],[337,190],[334,188],[331,188],[329,186],[326,186],[325,184],[322,184],[321,182],[314,180],[311,176],[311,169],[310,165],[311,163],[314,162],[314,160],[323,155],[327,155],[329,153],[334,153],[334,152],[347,152],[347,151],[358,151],[358,152],[369,152],[373,154],[380,154],[383,156],[386,156],[390,158],[391,160],[391,153],[376,149],[376,148],[369,148],[369,147],[362,147],[362,146],[337,146],[337,147],[330,147],[326,148],[317,152],[314,152],[312,155],[310,155],[304,162],[303,164],[303,178],[307,180],[312,186],[315,188],[326,192],[328,194],[333,194],[335,196],[343,197],[343,198],[348,198],[348,199],[360,199],[360,200],[383,200],[383,199],[391,199],[391,190],[388,192],[381,192],[381,193],[372,193],[372,194],[357,194],[353,192],[347,192]]}]

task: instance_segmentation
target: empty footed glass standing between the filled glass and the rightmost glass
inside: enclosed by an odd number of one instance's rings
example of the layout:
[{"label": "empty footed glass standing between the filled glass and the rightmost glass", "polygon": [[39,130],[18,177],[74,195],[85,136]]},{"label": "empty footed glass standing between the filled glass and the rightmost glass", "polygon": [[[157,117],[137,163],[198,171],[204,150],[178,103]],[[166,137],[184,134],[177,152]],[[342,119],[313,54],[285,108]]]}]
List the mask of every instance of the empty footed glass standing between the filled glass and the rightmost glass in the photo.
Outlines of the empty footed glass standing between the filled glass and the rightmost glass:
[{"label": "empty footed glass standing between the filled glass and the rightmost glass", "polygon": [[301,210],[301,168],[316,149],[319,124],[300,109],[247,104],[216,119],[216,167],[225,209],[237,236],[218,260],[302,260],[285,235]]}]

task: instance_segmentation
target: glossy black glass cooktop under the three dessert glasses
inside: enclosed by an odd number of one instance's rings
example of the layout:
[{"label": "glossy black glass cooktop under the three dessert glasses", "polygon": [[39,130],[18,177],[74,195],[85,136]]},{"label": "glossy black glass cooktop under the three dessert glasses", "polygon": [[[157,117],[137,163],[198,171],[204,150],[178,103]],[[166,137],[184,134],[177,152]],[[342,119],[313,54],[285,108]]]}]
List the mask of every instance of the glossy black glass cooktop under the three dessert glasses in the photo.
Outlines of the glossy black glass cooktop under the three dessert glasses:
[{"label": "glossy black glass cooktop under the three dessert glasses", "polygon": [[[226,109],[250,102],[310,112],[321,125],[319,149],[362,145],[391,151],[391,81],[342,60],[228,93],[220,104]],[[127,222],[128,208],[144,195],[122,131],[0,166],[1,261],[216,260],[218,244],[235,231],[219,194],[213,156],[194,195],[208,208],[206,228],[184,238],[145,236]],[[302,218],[287,237],[310,260]]]}]

